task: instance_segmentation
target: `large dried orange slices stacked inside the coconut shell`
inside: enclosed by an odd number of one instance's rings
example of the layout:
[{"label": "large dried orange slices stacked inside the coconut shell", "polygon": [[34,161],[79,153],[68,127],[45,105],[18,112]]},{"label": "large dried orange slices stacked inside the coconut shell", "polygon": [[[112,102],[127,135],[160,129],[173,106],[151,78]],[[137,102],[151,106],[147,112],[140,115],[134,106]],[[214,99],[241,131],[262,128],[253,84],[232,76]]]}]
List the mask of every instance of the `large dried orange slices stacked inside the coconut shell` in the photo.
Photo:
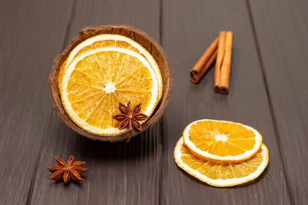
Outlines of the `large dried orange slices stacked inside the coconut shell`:
[{"label": "large dried orange slices stacked inside the coconut shell", "polygon": [[[122,35],[99,34],[69,54],[59,73],[59,91],[68,116],[85,131],[101,136],[119,130],[119,103],[142,103],[150,117],[162,94],[162,78],[152,55]],[[144,121],[141,122],[144,123]]]}]

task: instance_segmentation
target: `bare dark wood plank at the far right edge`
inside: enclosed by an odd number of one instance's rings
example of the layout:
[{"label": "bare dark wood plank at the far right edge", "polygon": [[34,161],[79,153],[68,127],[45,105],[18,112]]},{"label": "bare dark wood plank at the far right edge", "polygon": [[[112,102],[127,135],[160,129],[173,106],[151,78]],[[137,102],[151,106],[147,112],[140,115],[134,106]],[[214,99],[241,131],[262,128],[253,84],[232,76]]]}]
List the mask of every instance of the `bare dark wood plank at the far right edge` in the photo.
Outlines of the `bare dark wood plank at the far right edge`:
[{"label": "bare dark wood plank at the far right edge", "polygon": [[308,1],[249,1],[294,205],[308,204]]}]

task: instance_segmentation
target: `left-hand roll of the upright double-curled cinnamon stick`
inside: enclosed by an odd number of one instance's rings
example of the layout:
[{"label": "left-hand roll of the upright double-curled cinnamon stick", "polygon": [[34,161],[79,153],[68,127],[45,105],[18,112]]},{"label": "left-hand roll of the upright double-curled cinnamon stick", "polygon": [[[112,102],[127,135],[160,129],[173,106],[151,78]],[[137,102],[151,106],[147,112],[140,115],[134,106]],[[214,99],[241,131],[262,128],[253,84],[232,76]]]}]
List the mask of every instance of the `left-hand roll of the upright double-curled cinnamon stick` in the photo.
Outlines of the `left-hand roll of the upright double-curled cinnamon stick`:
[{"label": "left-hand roll of the upright double-curled cinnamon stick", "polygon": [[219,87],[220,87],[220,69],[225,51],[226,33],[227,31],[220,31],[218,35],[218,49],[217,49],[217,58],[215,64],[215,80],[214,80],[214,90],[216,92],[219,92]]}]

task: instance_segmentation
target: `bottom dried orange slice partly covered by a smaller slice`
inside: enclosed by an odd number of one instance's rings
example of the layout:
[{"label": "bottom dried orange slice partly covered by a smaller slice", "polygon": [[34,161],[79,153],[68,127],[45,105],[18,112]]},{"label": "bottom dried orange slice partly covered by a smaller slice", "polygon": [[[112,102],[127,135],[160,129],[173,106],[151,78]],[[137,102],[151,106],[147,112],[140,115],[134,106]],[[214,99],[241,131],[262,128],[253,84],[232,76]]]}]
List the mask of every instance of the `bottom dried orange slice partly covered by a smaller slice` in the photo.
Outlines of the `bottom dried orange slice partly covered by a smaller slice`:
[{"label": "bottom dried orange slice partly covered by a smaller slice", "polygon": [[174,159],[188,174],[212,186],[235,186],[260,176],[269,162],[269,151],[262,144],[258,152],[243,162],[219,162],[199,157],[183,143],[183,137],[174,149]]}]

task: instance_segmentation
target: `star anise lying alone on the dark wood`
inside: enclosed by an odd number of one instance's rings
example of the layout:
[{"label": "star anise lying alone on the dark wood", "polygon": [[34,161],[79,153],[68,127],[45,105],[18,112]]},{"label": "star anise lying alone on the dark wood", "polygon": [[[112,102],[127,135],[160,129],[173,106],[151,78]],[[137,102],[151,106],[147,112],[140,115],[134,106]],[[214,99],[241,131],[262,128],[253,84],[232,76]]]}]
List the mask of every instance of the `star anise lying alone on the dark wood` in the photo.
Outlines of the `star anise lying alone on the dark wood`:
[{"label": "star anise lying alone on the dark wood", "polygon": [[55,157],[58,165],[47,168],[48,171],[54,173],[49,176],[50,179],[55,181],[62,181],[64,184],[68,183],[69,180],[73,181],[83,181],[80,175],[84,174],[88,169],[83,168],[86,162],[76,161],[73,163],[74,157],[71,155],[67,163],[65,164],[64,160]]}]

